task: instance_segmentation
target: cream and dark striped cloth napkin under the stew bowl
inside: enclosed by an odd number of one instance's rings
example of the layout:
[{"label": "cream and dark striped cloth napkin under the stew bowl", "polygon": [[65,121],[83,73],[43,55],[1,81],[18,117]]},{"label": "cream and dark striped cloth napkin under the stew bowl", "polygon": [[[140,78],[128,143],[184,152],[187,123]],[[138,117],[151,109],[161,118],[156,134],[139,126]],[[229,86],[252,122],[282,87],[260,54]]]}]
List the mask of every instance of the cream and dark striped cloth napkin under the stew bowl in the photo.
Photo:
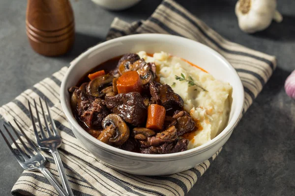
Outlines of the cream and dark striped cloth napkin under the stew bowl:
[{"label": "cream and dark striped cloth napkin under the stew bowl", "polygon": [[[164,0],[146,21],[128,24],[116,18],[107,39],[135,33],[166,33],[201,42],[222,54],[238,72],[245,89],[244,112],[259,94],[276,67],[274,56],[229,42],[173,0]],[[34,133],[29,120],[27,99],[46,97],[62,137],[61,160],[76,196],[184,196],[206,172],[218,152],[204,163],[168,176],[138,176],[110,168],[89,153],[69,129],[59,102],[59,86],[67,67],[26,90],[0,108],[6,122],[15,118],[29,138]],[[41,111],[41,110],[39,110]],[[8,149],[5,149],[8,150]],[[46,167],[58,178],[52,157]],[[12,160],[15,161],[15,160]],[[57,192],[39,172],[24,171],[12,188],[13,195],[56,196]]]}]

